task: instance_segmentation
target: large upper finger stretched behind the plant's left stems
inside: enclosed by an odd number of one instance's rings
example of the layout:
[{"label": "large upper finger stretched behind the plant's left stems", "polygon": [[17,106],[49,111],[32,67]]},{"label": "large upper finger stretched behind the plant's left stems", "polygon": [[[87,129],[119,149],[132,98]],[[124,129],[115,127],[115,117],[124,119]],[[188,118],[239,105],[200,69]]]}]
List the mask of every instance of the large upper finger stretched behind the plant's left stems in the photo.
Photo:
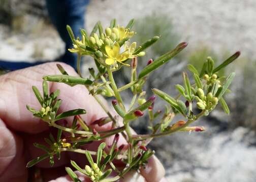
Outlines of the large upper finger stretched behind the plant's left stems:
[{"label": "large upper finger stretched behind the plant's left stems", "polygon": [[[59,63],[70,75],[77,75],[69,65]],[[0,76],[0,118],[8,127],[30,133],[38,133],[48,129],[47,123],[39,118],[32,118],[26,110],[26,104],[40,109],[34,96],[32,85],[39,88],[42,93],[42,76],[46,74],[60,74],[55,63],[46,63]],[[63,100],[61,111],[83,108],[87,110],[86,122],[106,116],[99,104],[88,94],[82,85],[70,87],[63,83],[49,82],[50,92],[60,89],[60,98]],[[104,126],[106,127],[106,126]]]}]

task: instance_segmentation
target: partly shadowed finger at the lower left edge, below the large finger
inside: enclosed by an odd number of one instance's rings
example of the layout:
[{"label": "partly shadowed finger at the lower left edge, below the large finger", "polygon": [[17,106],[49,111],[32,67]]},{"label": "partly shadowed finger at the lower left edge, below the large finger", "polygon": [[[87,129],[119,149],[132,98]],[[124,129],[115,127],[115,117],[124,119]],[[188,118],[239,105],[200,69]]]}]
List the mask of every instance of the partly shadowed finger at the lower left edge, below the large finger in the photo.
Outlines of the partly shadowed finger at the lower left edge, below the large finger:
[{"label": "partly shadowed finger at the lower left edge, below the large finger", "polygon": [[26,181],[22,139],[0,119],[0,181]]}]

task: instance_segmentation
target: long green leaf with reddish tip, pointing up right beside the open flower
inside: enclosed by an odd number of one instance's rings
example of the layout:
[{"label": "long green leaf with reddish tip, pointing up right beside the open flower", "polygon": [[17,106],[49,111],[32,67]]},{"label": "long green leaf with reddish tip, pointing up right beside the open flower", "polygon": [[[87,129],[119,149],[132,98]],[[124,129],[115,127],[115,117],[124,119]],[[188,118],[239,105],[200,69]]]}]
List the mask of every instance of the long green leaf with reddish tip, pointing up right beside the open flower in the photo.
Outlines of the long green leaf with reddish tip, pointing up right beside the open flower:
[{"label": "long green leaf with reddish tip, pointing up right beside the open flower", "polygon": [[163,56],[155,59],[154,62],[152,62],[151,64],[147,65],[144,69],[142,69],[138,78],[139,79],[143,78],[144,76],[148,75],[149,73],[151,73],[152,71],[154,71],[158,67],[167,63],[170,59],[172,59],[179,52],[181,52],[186,46],[187,46],[187,43],[182,42],[182,43],[178,44],[177,47],[174,50],[172,50],[172,51],[164,54]]}]

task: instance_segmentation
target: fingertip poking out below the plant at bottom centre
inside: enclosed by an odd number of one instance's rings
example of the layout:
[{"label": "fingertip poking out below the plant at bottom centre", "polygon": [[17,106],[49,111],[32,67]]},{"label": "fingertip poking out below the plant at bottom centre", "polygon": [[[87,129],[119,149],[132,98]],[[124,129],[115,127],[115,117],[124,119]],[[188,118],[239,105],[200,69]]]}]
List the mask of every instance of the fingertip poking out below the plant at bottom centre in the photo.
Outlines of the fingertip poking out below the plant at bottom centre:
[{"label": "fingertip poking out below the plant at bottom centre", "polygon": [[145,168],[141,168],[141,174],[145,177],[147,182],[157,182],[165,176],[165,168],[153,155],[148,159],[148,163]]}]

